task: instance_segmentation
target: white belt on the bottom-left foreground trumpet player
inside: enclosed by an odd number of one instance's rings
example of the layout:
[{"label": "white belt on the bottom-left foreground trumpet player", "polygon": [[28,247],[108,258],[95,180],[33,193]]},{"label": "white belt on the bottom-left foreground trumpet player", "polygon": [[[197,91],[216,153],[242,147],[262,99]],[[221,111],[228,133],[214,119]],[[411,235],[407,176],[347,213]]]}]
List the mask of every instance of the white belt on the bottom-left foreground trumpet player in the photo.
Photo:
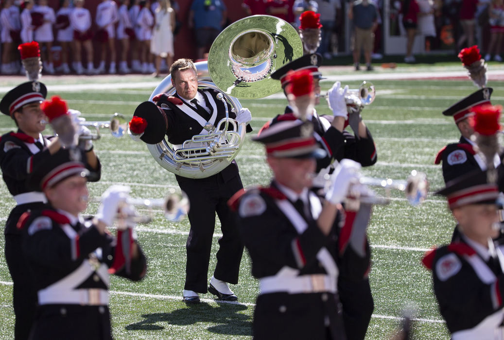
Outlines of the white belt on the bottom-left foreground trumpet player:
[{"label": "white belt on the bottom-left foreground trumpet player", "polygon": [[108,304],[108,291],[100,288],[74,289],[68,292],[40,290],[38,292],[38,304],[104,306]]}]

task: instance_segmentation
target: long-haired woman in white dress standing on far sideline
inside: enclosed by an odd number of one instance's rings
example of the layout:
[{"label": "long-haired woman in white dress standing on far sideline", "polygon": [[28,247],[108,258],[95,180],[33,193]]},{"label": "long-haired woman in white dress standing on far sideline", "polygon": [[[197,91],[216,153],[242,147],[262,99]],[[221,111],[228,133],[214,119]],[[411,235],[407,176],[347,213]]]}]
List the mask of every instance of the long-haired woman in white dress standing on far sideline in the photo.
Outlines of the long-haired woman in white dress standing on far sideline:
[{"label": "long-haired woman in white dress standing on far sideline", "polygon": [[156,56],[156,74],[159,77],[161,58],[166,58],[166,66],[170,69],[173,61],[173,30],[175,29],[175,12],[169,0],[159,0],[155,12],[156,24],[152,29],[151,53]]}]

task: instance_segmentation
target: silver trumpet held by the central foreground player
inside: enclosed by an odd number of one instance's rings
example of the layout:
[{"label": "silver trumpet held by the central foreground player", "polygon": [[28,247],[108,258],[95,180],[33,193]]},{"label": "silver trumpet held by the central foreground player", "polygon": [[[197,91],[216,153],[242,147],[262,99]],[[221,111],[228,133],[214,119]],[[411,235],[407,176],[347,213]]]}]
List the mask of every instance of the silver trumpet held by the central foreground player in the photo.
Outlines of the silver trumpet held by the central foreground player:
[{"label": "silver trumpet held by the central foreground player", "polygon": [[[386,190],[387,197],[381,197],[371,193],[370,195],[359,196],[359,193],[352,190],[350,187],[351,201],[357,200],[363,203],[371,203],[377,205],[387,205],[390,203],[390,189],[397,189],[404,191],[408,202],[412,206],[417,206],[422,203],[429,192],[429,182],[427,176],[423,172],[416,170],[411,171],[411,174],[406,180],[397,180],[390,178],[373,178],[373,177],[360,177],[359,183],[366,186],[381,187]],[[355,202],[351,202],[355,203]]]}]

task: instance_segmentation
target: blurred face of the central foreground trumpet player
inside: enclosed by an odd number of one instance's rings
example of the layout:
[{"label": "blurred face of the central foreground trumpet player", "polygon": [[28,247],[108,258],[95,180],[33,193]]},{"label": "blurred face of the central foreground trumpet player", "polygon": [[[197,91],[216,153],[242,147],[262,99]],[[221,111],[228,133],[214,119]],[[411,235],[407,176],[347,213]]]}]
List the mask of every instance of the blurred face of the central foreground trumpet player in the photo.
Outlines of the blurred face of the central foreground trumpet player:
[{"label": "blurred face of the central foreground trumpet player", "polygon": [[314,158],[275,158],[268,157],[268,164],[275,179],[286,187],[301,192],[312,186],[317,162]]}]

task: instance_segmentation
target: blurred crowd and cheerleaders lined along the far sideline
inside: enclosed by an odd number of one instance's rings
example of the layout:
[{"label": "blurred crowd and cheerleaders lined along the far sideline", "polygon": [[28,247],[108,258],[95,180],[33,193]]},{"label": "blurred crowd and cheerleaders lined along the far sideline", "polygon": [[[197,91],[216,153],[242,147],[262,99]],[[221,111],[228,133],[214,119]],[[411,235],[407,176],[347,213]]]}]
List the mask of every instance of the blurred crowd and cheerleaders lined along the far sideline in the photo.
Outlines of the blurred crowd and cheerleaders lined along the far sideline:
[{"label": "blurred crowd and cheerleaders lined along the far sideline", "polygon": [[[128,74],[159,77],[173,58],[204,59],[231,22],[267,14],[297,28],[304,11],[320,14],[318,52],[326,62],[361,49],[372,59],[456,54],[479,45],[501,61],[504,0],[2,0],[3,75],[23,74],[17,46],[38,41],[46,74]],[[355,39],[357,38],[357,39]],[[362,40],[363,39],[363,40]],[[370,39],[370,40],[369,40]]]}]

